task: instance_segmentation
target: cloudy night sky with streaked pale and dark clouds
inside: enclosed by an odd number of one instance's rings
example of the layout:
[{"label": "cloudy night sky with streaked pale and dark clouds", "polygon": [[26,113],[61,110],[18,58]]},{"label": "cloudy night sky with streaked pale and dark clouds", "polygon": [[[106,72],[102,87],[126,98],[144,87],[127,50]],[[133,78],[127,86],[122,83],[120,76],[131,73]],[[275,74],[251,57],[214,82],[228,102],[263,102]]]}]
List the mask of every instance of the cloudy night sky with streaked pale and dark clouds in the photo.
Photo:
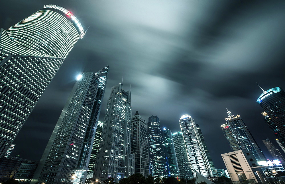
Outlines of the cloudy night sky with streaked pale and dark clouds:
[{"label": "cloudy night sky with streaked pale and dark clouds", "polygon": [[1,1],[0,28],[55,4],[84,29],[26,121],[12,155],[40,160],[68,95],[82,71],[110,66],[100,120],[111,87],[131,85],[132,114],[181,131],[188,114],[200,125],[216,168],[231,152],[221,131],[226,108],[240,114],[268,159],[262,140],[274,136],[256,103],[262,90],[285,89],[285,1]]}]

